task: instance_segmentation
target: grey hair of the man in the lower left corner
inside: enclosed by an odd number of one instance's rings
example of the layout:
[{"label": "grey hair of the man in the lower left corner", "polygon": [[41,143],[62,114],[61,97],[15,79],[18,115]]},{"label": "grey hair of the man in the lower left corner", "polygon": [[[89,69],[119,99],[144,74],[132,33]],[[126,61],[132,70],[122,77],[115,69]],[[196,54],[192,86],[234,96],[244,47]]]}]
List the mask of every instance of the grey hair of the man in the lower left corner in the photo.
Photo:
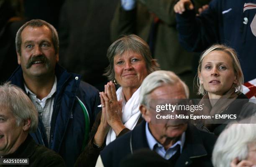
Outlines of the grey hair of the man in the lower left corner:
[{"label": "grey hair of the man in the lower left corner", "polygon": [[17,127],[29,119],[31,121],[29,131],[36,131],[38,112],[33,102],[19,87],[11,85],[10,82],[0,85],[0,108],[6,108],[14,115]]}]

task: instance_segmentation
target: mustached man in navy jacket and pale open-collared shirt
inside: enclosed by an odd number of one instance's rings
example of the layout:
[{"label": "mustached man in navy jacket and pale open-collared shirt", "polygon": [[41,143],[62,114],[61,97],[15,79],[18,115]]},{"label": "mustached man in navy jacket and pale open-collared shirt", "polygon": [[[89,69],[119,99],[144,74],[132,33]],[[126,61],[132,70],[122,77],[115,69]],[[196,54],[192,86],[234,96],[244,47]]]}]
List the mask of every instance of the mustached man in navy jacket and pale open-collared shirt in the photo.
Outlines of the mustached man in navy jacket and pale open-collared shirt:
[{"label": "mustached man in navy jacket and pale open-collared shirt", "polygon": [[48,22],[26,22],[15,44],[20,67],[9,80],[27,93],[38,110],[38,129],[31,136],[72,167],[99,110],[98,91],[57,64],[58,34]]}]

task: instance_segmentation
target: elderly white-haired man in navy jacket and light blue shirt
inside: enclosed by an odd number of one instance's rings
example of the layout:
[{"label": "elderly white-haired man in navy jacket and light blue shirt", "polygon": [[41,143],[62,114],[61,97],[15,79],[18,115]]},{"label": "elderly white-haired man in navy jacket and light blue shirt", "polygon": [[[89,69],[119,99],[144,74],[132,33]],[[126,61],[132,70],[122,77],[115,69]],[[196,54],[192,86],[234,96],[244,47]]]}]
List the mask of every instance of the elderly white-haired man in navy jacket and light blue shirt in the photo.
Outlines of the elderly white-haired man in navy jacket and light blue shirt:
[{"label": "elderly white-haired man in navy jacket and light blue shirt", "polygon": [[100,153],[96,166],[119,167],[120,160],[127,155],[149,148],[170,167],[212,167],[214,135],[197,130],[191,124],[174,124],[169,120],[154,122],[155,103],[184,100],[188,96],[187,85],[173,72],[159,70],[149,74],[143,80],[140,92],[140,111],[145,121],[110,143]]}]

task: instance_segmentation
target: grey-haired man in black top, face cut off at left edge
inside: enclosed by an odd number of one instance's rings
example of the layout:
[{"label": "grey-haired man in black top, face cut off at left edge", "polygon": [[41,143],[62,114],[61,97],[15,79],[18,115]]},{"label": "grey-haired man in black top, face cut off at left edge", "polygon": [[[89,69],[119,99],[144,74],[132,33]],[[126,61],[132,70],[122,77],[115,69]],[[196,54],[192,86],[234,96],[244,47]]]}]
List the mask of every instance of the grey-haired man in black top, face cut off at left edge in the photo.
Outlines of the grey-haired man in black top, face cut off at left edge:
[{"label": "grey-haired man in black top, face cut off at left edge", "polygon": [[29,135],[37,125],[38,112],[23,90],[9,83],[1,85],[0,157],[29,159],[29,165],[19,167],[64,167],[64,160],[57,153],[36,144]]}]

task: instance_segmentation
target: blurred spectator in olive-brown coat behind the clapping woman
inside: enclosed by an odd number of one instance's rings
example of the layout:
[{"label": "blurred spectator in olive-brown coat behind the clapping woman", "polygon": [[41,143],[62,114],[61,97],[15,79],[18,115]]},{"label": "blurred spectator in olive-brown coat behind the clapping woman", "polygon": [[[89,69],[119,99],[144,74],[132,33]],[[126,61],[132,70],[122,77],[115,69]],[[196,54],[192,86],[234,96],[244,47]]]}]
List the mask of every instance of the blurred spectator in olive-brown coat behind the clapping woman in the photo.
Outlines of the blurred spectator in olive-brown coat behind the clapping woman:
[{"label": "blurred spectator in olive-brown coat behind the clapping woman", "polygon": [[[136,34],[148,42],[151,53],[161,70],[175,72],[189,85],[190,97],[197,97],[193,89],[198,56],[184,50],[178,41],[173,7],[176,0],[119,0],[111,23],[111,40],[123,34]],[[197,8],[210,0],[195,0]],[[194,67],[195,67],[194,66]]]}]

